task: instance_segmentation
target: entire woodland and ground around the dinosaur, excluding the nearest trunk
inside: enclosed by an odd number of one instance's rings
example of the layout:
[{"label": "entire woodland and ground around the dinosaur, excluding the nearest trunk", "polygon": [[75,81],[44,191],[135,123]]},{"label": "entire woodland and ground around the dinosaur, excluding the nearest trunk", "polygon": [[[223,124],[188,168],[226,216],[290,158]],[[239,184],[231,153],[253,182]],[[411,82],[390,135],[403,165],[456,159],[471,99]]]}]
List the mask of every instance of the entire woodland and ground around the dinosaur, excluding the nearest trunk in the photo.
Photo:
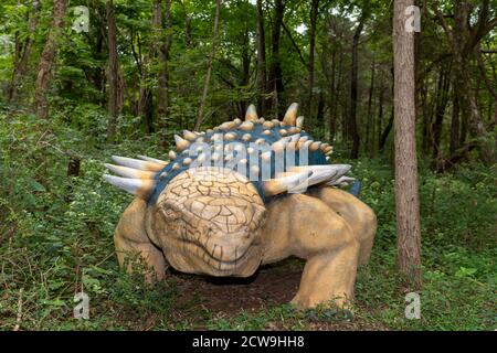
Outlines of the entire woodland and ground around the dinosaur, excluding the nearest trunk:
[{"label": "entire woodland and ground around the dinosaur, excluding the nearest trunk", "polygon": [[[394,270],[392,1],[2,1],[0,327],[494,329],[497,1],[416,6],[425,309],[409,321],[409,286]],[[355,165],[379,216],[355,318],[265,300],[274,279],[264,271],[258,299],[232,312],[208,298],[219,285],[205,279],[176,274],[145,290],[124,276],[112,235],[129,197],[102,182],[102,163],[163,158],[183,129],[242,117],[251,103],[282,118],[292,101],[306,130],[335,146],[334,162]],[[200,291],[186,303],[189,280]],[[87,322],[71,318],[83,287],[96,298]]]}]

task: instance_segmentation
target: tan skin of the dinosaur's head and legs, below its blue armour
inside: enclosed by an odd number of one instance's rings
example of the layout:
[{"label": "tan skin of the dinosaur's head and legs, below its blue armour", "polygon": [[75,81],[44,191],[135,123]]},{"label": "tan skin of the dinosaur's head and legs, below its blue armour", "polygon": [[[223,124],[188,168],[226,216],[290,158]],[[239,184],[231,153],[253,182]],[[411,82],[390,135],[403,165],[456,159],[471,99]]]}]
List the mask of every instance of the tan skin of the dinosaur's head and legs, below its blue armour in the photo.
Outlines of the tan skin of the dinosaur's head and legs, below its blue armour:
[{"label": "tan skin of the dinosaur's head and legs, below its blue armour", "polygon": [[277,196],[264,206],[237,173],[194,179],[188,172],[155,205],[137,197],[124,212],[115,233],[121,266],[126,256],[139,255],[152,269],[149,280],[161,280],[166,264],[183,272],[248,277],[260,265],[294,255],[307,260],[294,304],[346,306],[353,299],[357,266],[367,263],[377,228],[370,207],[335,188]]}]

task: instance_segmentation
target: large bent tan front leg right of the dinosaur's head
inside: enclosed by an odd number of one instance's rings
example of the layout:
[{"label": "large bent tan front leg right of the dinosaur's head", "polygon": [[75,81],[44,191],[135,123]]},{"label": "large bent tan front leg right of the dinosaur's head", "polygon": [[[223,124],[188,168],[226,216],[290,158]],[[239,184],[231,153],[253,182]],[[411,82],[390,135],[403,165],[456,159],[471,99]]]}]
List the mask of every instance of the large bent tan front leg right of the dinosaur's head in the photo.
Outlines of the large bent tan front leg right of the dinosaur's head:
[{"label": "large bent tan front leg right of the dinosaur's head", "polygon": [[360,246],[341,216],[316,197],[294,194],[269,205],[267,223],[265,263],[287,255],[307,260],[293,303],[345,306],[353,298]]}]

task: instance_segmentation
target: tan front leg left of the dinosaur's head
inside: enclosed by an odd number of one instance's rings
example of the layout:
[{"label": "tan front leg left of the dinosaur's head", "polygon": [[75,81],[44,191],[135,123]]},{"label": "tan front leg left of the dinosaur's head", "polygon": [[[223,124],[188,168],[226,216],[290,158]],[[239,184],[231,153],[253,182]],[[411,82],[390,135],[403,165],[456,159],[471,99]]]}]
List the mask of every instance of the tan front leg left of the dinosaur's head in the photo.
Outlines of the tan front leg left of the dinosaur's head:
[{"label": "tan front leg left of the dinosaur's head", "polygon": [[146,280],[161,280],[166,272],[166,260],[162,253],[150,242],[145,231],[146,204],[136,199],[123,213],[114,235],[117,259],[120,266],[127,266],[126,270],[133,272],[133,260],[139,257],[150,271],[146,274]]}]

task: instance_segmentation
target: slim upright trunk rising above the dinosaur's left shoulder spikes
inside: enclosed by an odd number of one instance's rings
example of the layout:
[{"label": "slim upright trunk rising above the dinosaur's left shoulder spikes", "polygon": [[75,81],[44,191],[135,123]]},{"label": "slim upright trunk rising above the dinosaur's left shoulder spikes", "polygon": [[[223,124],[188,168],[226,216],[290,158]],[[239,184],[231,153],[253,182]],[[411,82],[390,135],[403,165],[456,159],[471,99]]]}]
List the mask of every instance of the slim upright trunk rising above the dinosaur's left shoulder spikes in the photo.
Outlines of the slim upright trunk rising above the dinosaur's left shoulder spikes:
[{"label": "slim upright trunk rising above the dinosaur's left shoulder spikes", "polygon": [[107,103],[107,141],[113,142],[116,135],[118,113],[118,61],[117,28],[113,0],[107,0],[107,46],[108,46],[108,103]]}]

